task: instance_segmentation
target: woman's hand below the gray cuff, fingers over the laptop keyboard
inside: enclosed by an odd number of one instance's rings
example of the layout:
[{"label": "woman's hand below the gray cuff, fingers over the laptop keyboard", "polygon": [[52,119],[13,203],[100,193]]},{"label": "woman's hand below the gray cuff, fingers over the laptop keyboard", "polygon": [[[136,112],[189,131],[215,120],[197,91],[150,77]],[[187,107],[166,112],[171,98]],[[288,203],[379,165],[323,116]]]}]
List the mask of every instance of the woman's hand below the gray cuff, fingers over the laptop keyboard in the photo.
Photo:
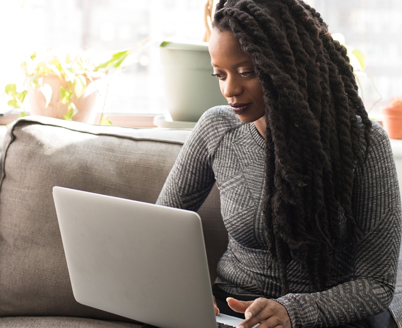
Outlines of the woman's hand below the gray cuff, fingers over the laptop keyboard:
[{"label": "woman's hand below the gray cuff, fingers over the laptop keyboard", "polygon": [[257,323],[261,323],[259,328],[291,328],[286,308],[276,301],[261,297],[248,302],[228,297],[226,301],[234,311],[246,317],[237,328],[251,328]]}]

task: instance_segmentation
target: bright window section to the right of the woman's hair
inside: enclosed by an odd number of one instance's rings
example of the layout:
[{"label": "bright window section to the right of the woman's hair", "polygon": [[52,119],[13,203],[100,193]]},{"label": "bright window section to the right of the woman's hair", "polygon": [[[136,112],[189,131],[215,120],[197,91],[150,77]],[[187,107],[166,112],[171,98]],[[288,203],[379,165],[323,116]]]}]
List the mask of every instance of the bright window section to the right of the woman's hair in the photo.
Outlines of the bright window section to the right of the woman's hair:
[{"label": "bright window section to the right of the woman's hair", "polygon": [[393,96],[402,96],[402,2],[400,0],[310,0],[322,15],[331,33],[342,33],[346,44],[365,56],[360,75],[363,101],[371,117]]}]

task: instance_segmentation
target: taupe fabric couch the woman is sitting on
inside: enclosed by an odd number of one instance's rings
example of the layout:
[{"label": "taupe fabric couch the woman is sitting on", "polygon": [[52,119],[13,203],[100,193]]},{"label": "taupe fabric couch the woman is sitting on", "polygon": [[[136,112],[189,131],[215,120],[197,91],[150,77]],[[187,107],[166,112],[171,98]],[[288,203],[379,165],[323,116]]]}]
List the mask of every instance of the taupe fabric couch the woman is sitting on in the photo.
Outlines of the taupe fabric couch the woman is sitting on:
[{"label": "taupe fabric couch the woman is sitting on", "polygon": [[[75,301],[52,187],[154,203],[189,133],[45,117],[22,118],[10,125],[0,166],[0,327],[142,326]],[[228,241],[216,187],[198,213],[214,281]],[[400,317],[401,271],[402,260],[392,304]]]}]

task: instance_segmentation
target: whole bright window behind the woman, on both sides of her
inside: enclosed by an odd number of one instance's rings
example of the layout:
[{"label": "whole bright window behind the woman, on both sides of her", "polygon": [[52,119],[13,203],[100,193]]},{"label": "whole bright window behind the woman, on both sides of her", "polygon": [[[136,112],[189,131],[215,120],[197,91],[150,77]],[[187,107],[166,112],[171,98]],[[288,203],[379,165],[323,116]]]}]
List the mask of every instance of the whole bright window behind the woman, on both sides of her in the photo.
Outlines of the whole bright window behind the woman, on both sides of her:
[{"label": "whole bright window behind the woman, on both sides of her", "polygon": [[[38,49],[116,51],[150,37],[135,63],[110,77],[106,112],[162,114],[164,102],[158,43],[178,37],[201,40],[205,0],[0,0],[2,74],[0,94],[10,82],[23,80],[20,63]],[[402,95],[402,2],[400,0],[309,0],[346,44],[363,52],[382,100]],[[370,79],[361,78],[369,109],[378,99]],[[7,106],[2,97],[0,106]],[[101,108],[99,108],[100,111]],[[371,115],[370,114],[370,115]]]}]

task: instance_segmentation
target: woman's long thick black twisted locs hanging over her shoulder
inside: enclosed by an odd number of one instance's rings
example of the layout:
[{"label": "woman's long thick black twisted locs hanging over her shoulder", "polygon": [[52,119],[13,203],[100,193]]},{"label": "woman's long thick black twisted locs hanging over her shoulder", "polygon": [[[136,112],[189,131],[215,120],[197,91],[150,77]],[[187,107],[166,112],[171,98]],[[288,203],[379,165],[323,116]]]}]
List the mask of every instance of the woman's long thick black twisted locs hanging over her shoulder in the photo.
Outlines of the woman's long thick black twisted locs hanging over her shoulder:
[{"label": "woman's long thick black twisted locs hanging over her shoulder", "polygon": [[282,293],[291,259],[324,290],[340,240],[339,206],[358,232],[353,169],[364,154],[356,116],[367,147],[371,128],[346,48],[301,0],[220,0],[213,27],[239,39],[264,91],[264,221]]}]

